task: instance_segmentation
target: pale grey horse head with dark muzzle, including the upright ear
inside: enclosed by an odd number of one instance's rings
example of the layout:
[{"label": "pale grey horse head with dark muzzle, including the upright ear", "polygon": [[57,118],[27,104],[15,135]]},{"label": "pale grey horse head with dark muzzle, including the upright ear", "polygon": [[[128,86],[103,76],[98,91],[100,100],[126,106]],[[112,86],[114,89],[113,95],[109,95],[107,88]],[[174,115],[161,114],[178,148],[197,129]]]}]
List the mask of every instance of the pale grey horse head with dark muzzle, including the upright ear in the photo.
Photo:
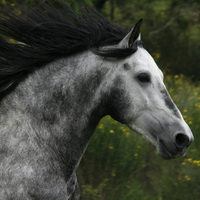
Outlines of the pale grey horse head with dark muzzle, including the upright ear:
[{"label": "pale grey horse head with dark muzzle, including the upright ear", "polygon": [[142,46],[141,22],[115,46],[135,52],[115,64],[108,113],[153,143],[164,159],[183,156],[193,135],[163,83],[163,73]]}]

